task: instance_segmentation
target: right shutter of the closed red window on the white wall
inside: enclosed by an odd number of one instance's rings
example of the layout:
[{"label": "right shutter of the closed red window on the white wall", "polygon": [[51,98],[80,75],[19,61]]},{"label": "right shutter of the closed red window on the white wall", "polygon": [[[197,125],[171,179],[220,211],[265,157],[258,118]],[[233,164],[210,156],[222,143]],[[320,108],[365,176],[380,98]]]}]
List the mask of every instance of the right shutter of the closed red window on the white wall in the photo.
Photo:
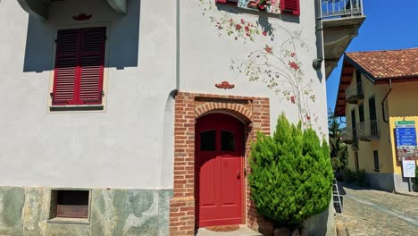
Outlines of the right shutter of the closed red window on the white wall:
[{"label": "right shutter of the closed red window on the white wall", "polygon": [[79,74],[80,104],[101,104],[104,73],[104,28],[82,31]]}]

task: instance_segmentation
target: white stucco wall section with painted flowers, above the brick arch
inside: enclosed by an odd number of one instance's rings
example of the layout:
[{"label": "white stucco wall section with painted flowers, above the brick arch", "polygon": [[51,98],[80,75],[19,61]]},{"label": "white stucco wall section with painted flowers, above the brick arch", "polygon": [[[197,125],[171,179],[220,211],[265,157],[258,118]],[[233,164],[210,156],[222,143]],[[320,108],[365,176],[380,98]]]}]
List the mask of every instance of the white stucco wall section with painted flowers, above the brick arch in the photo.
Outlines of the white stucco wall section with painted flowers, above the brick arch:
[{"label": "white stucco wall section with painted flowers, above the brick arch", "polygon": [[[297,41],[296,51],[297,60],[302,63],[301,71],[304,73],[303,84],[306,85],[309,80],[313,80],[308,86],[312,89],[310,95],[316,97],[314,102],[305,105],[309,109],[311,122],[319,134],[328,136],[327,125],[327,104],[325,75],[322,63],[322,75],[319,75],[313,68],[312,62],[317,58],[316,37],[315,37],[315,14],[314,1],[304,1],[301,3],[300,16],[293,15],[268,15],[258,11],[237,10],[235,6],[214,6],[214,9],[225,9],[221,13],[205,11],[209,4],[199,4],[198,0],[181,0],[180,8],[180,89],[183,91],[238,95],[270,97],[271,101],[271,126],[275,130],[279,114],[285,113],[292,122],[297,122],[297,105],[292,104],[287,97],[281,93],[276,95],[272,89],[268,89],[263,81],[249,81],[245,73],[239,73],[230,70],[230,62],[233,60],[247,59],[247,55],[256,50],[262,50],[265,45],[272,46],[273,54],[280,55],[280,46],[290,38],[286,32],[293,33],[300,31],[300,41]],[[204,0],[204,3],[213,3],[211,0]],[[215,10],[216,12],[217,10]],[[230,12],[228,12],[230,11]],[[203,15],[202,13],[205,13]],[[234,33],[228,36],[222,31],[222,36],[218,35],[215,27],[216,21],[211,22],[210,17],[215,15],[217,20],[222,18],[222,13],[228,13],[234,22],[240,22],[243,19],[246,22],[255,24],[260,21],[272,24],[274,30],[274,39],[263,35],[255,36],[255,41],[243,40],[238,37],[235,40]],[[229,18],[228,18],[229,19]],[[222,27],[228,26],[222,24]],[[280,29],[282,28],[282,29]],[[300,42],[305,42],[307,48],[302,48]],[[285,46],[286,47],[286,46]],[[278,60],[272,60],[273,65],[280,69],[287,70],[288,58],[280,63]],[[293,60],[293,59],[292,59]],[[217,89],[214,84],[227,80],[235,85],[234,89]],[[291,95],[290,95],[291,96]],[[316,119],[314,116],[317,116]]]}]

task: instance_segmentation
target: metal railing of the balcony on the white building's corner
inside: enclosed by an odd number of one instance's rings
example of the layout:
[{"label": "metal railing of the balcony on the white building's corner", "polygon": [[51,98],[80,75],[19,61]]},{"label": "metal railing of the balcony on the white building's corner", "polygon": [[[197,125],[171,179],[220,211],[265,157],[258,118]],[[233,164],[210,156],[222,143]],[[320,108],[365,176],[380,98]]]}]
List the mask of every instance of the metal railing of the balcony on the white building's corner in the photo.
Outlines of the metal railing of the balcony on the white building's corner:
[{"label": "metal railing of the balcony on the white building's corner", "polygon": [[322,0],[322,19],[363,15],[363,0]]}]

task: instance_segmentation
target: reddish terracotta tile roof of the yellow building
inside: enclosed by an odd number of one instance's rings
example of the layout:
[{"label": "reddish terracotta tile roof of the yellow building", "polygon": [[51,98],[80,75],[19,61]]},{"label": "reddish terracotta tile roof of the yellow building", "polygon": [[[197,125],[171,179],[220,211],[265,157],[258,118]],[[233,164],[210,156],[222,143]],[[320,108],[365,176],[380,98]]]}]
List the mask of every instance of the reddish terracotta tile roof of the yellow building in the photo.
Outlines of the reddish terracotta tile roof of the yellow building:
[{"label": "reddish terracotta tile roof of the yellow building", "polygon": [[346,55],[375,80],[418,77],[418,47]]}]

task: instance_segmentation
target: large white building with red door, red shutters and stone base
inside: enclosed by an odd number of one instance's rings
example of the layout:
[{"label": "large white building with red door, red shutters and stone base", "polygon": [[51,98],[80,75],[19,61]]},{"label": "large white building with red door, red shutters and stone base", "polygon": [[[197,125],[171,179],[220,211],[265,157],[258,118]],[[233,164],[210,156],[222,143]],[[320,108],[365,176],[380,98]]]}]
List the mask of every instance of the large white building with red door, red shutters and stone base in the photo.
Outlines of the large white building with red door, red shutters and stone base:
[{"label": "large white building with red door, red shutters and stone base", "polygon": [[281,113],[328,135],[326,75],[364,21],[272,2],[1,1],[0,234],[263,230],[250,143]]}]

